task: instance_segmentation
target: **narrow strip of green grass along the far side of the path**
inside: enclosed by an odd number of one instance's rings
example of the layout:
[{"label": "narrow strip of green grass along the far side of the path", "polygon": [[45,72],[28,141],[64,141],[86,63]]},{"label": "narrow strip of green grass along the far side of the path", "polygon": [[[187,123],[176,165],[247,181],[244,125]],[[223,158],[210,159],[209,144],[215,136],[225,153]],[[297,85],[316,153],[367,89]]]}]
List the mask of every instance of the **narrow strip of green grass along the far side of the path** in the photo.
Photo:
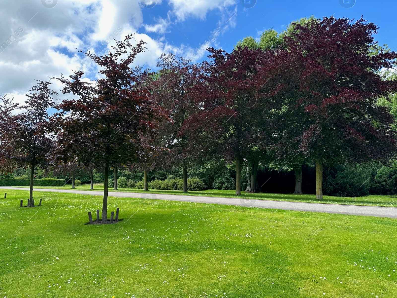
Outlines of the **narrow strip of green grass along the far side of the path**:
[{"label": "narrow strip of green grass along the far side of the path", "polygon": [[[53,188],[53,189],[71,189],[71,184],[62,187],[35,187],[35,188]],[[89,184],[83,184],[76,187],[77,190],[91,190]],[[103,190],[103,184],[96,184],[94,190]],[[113,188],[109,191],[115,192]],[[140,190],[137,188],[119,188],[118,192],[144,192],[150,194],[178,194],[178,195],[203,195],[211,197],[236,197],[235,190],[202,190],[198,192],[189,191],[187,194],[181,190]],[[333,197],[324,195],[322,201],[316,200],[316,195],[294,195],[294,194],[267,194],[258,193],[251,194],[249,192],[241,192],[242,198],[247,199],[268,199],[278,201],[294,201],[294,202],[313,202],[328,204],[345,204],[345,205],[372,205],[397,207],[397,195],[368,195],[366,197]]]}]

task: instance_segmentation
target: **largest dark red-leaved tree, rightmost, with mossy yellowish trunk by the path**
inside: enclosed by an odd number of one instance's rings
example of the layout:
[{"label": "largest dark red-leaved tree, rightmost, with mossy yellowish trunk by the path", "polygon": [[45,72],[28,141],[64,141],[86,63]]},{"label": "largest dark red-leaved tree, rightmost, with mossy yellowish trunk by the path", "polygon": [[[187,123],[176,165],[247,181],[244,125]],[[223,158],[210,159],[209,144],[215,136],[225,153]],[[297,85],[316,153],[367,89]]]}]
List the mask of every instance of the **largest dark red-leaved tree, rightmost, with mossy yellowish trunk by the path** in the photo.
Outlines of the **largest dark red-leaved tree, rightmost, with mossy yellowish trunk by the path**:
[{"label": "largest dark red-leaved tree, rightmost, with mossy yellowish trunk by the path", "polygon": [[294,27],[283,38],[294,61],[291,109],[303,111],[293,122],[304,127],[300,150],[316,164],[316,198],[322,199],[324,164],[381,159],[395,150],[393,118],[376,99],[397,91],[397,81],[377,72],[393,68],[397,53],[373,54],[378,27],[362,18],[324,17]]}]

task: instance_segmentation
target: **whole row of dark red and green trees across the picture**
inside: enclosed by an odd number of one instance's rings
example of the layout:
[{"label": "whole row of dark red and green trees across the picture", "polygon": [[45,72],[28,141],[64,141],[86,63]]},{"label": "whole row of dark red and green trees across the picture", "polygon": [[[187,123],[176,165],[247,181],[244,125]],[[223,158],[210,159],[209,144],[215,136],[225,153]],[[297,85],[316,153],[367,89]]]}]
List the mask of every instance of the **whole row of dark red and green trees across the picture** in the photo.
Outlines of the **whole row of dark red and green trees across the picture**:
[{"label": "whole row of dark red and green trees across the picture", "polygon": [[73,98],[54,115],[49,82],[39,81],[25,106],[3,96],[0,169],[29,166],[32,177],[46,163],[102,169],[102,220],[111,166],[116,183],[118,167],[142,168],[147,189],[147,170],[180,165],[187,192],[189,165],[222,157],[235,163],[240,195],[243,161],[247,191],[257,191],[262,163],[295,170],[295,193],[306,161],[316,165],[322,199],[324,166],[391,159],[396,150],[395,119],[378,101],[397,91],[380,72],[395,67],[397,53],[377,45],[377,29],[364,19],[312,17],[265,31],[260,43],[244,39],[231,53],[208,48],[199,64],[163,54],[156,72],[131,68],[145,45],[127,35],[103,56],[83,53],[100,79],[82,71],[54,78]]}]

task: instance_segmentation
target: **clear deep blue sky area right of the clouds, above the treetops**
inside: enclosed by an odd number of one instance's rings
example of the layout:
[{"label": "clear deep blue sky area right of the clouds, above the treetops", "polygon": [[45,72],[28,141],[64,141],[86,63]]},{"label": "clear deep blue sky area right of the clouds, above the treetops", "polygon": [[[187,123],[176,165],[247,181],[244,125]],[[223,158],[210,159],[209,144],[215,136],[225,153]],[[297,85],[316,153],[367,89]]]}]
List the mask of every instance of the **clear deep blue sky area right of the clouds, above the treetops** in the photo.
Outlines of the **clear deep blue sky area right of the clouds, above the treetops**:
[{"label": "clear deep blue sky area right of the clouds, above the treetops", "polygon": [[[169,33],[164,37],[174,46],[181,44],[197,47],[206,39],[209,39],[212,32],[221,28],[220,34],[216,37],[215,44],[227,51],[233,49],[233,45],[247,35],[259,37],[260,32],[265,29],[274,28],[276,31],[283,31],[291,21],[301,17],[314,15],[348,17],[359,19],[361,15],[368,21],[377,24],[380,29],[376,39],[381,45],[387,43],[391,48],[397,47],[397,31],[395,30],[396,1],[369,1],[357,0],[351,8],[344,8],[338,0],[327,1],[261,1],[258,0],[252,8],[244,8],[237,5],[237,12],[230,10],[229,16],[235,14],[235,27],[225,28],[223,14],[219,10],[208,12],[205,19],[197,17],[185,21],[174,21],[175,25],[170,26]],[[158,17],[165,17],[170,11],[168,3],[163,2],[154,8],[143,10],[144,21],[153,23]],[[219,30],[219,29],[218,29]],[[148,33],[153,38],[158,37],[155,33]],[[205,58],[205,57],[204,57]]]}]

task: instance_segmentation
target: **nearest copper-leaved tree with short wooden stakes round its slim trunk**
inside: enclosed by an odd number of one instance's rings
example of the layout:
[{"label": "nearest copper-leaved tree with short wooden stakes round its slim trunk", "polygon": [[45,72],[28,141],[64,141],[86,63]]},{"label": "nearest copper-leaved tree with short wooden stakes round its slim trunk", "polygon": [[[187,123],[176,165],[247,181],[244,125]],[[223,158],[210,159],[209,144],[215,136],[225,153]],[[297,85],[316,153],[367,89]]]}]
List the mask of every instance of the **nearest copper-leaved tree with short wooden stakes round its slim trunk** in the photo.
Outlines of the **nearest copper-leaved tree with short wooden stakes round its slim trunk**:
[{"label": "nearest copper-leaved tree with short wooden stakes round its slim trunk", "polygon": [[142,136],[168,120],[150,93],[135,84],[138,78],[131,64],[144,50],[143,41],[127,35],[103,56],[84,53],[100,68],[99,79],[89,82],[81,71],[70,79],[59,78],[62,92],[74,96],[58,104],[60,112],[52,118],[59,130],[56,158],[104,169],[102,223],[107,223],[109,167],[128,165],[139,161],[140,155],[156,152],[154,146],[141,142]]}]

